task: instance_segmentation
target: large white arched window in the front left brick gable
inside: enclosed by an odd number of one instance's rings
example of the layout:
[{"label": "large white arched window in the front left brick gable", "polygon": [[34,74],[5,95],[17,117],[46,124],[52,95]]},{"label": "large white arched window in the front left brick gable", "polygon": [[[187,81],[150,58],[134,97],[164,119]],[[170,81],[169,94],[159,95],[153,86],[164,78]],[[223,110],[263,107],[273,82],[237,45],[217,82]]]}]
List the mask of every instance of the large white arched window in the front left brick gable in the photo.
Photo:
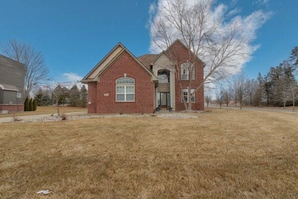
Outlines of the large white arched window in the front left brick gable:
[{"label": "large white arched window in the front left brick gable", "polygon": [[116,101],[135,101],[135,80],[119,78],[116,80]]}]

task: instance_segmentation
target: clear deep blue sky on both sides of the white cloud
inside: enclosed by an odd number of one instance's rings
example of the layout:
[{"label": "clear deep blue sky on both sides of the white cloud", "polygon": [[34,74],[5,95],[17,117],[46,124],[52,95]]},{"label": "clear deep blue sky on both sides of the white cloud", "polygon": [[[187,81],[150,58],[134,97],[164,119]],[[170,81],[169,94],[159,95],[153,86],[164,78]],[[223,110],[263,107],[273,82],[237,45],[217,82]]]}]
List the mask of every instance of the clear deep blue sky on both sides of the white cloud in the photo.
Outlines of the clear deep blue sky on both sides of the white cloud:
[{"label": "clear deep blue sky on both sides of the white cloud", "polygon": [[[41,50],[53,77],[83,77],[119,41],[136,56],[150,53],[147,24],[153,0],[1,1],[0,43],[12,38],[31,43]],[[258,9],[273,13],[257,31],[253,45],[260,47],[244,66],[244,72],[256,78],[287,59],[298,45],[298,1],[232,2],[241,16]]]}]

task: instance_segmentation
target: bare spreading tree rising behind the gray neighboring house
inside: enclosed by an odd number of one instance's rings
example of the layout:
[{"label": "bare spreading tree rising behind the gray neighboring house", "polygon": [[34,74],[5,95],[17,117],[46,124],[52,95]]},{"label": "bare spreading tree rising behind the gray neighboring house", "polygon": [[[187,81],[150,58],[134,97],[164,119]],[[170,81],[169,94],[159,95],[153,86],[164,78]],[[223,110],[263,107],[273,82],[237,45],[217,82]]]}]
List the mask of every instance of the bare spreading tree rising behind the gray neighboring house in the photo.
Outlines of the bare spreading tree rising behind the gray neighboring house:
[{"label": "bare spreading tree rising behind the gray neighboring house", "polygon": [[25,65],[25,96],[49,80],[49,70],[40,51],[35,51],[30,44],[10,40],[1,46],[2,53]]}]

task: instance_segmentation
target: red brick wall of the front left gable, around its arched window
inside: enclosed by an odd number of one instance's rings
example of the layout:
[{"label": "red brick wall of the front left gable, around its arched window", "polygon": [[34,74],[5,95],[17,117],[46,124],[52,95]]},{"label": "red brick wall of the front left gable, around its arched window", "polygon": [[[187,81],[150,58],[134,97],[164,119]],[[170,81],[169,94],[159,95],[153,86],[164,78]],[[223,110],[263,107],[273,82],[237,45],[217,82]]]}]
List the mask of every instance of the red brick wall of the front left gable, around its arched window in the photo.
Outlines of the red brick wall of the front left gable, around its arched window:
[{"label": "red brick wall of the front left gable, around its arched window", "polygon": [[[116,102],[116,80],[124,74],[135,79],[134,102]],[[154,83],[150,74],[124,52],[100,75],[97,84],[88,84],[88,101],[91,102],[88,113],[151,113],[154,109]]]}]

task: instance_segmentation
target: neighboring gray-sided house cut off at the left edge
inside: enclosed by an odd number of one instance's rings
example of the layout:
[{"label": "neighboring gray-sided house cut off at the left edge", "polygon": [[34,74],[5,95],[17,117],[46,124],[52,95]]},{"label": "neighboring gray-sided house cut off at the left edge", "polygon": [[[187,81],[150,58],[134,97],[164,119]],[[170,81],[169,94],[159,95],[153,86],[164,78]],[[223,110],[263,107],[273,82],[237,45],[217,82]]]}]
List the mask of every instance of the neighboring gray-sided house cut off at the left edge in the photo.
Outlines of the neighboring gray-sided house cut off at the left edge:
[{"label": "neighboring gray-sided house cut off at the left edge", "polygon": [[0,111],[24,110],[24,64],[0,55]]}]

